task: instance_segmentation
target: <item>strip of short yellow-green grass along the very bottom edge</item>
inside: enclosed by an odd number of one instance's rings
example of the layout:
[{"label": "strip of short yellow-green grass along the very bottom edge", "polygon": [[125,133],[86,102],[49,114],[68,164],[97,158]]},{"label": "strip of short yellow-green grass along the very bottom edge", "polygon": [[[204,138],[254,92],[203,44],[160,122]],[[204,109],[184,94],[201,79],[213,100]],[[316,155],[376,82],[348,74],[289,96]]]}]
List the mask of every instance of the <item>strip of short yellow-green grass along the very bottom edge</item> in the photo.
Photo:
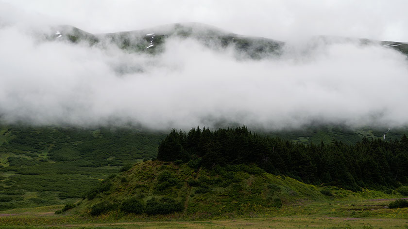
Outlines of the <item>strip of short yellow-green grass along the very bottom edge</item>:
[{"label": "strip of short yellow-green grass along the very bottom edge", "polygon": [[[1,223],[1,221],[0,221]],[[88,222],[61,223],[49,221],[46,225],[7,226],[0,228],[123,228],[123,229],[406,229],[408,219],[345,218],[345,217],[260,217],[207,221],[139,221],[139,222]]]}]

